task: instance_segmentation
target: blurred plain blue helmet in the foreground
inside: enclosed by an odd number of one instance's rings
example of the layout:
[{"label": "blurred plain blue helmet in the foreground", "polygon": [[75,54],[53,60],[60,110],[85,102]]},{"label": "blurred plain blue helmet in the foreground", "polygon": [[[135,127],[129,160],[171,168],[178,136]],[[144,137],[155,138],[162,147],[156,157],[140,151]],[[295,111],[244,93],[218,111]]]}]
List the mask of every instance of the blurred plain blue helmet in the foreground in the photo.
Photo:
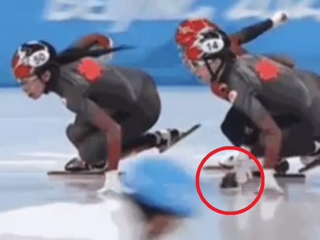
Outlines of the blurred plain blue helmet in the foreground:
[{"label": "blurred plain blue helmet in the foreground", "polygon": [[135,201],[175,215],[192,215],[199,201],[195,178],[170,158],[132,162],[123,184]]}]

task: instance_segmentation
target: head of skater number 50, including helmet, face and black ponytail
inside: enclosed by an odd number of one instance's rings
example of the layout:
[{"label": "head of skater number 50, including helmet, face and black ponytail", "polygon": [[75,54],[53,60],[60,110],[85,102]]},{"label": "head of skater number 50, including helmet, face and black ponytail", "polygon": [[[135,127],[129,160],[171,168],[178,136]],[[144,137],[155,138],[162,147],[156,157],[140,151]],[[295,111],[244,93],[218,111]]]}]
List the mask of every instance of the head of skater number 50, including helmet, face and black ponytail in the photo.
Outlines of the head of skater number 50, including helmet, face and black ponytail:
[{"label": "head of skater number 50, including helmet, face and black ponytail", "polygon": [[130,48],[128,46],[108,49],[69,48],[58,54],[48,42],[30,41],[18,47],[11,61],[11,68],[24,92],[29,97],[38,99],[49,91],[49,83],[59,77],[61,66],[85,57],[100,57]]}]

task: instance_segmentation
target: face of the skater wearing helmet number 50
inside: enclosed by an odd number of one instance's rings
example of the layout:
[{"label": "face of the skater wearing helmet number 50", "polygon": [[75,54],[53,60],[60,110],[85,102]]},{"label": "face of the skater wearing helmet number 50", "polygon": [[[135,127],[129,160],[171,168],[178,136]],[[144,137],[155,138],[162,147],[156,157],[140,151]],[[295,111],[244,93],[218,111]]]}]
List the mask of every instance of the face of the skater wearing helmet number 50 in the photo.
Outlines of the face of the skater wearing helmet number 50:
[{"label": "face of the skater wearing helmet number 50", "polygon": [[21,80],[22,90],[32,99],[38,99],[46,88],[46,83],[50,79],[50,72],[46,71],[43,73],[40,78],[36,75],[33,75],[29,78]]}]

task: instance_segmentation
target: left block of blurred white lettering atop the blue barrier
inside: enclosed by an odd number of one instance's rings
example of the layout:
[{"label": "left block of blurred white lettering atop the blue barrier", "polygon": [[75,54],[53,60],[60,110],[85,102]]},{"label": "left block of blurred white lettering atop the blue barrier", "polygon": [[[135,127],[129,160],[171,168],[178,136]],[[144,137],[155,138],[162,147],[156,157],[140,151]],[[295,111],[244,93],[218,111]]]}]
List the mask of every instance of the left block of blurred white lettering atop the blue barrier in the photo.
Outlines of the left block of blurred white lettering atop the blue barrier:
[{"label": "left block of blurred white lettering atop the blue barrier", "polygon": [[130,24],[134,20],[212,18],[213,6],[196,0],[47,0],[44,17],[50,21],[88,20]]}]

